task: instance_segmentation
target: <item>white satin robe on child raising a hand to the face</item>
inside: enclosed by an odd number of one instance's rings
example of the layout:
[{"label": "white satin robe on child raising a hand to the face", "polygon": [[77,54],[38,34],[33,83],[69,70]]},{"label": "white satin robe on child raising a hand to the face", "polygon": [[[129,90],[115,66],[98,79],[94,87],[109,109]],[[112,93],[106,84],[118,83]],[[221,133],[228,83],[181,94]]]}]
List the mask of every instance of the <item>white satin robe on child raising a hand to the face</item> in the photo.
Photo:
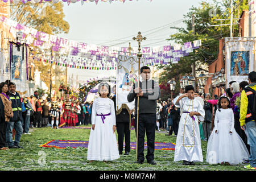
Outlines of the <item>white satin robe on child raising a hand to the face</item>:
[{"label": "white satin robe on child raising a hand to the face", "polygon": [[[176,100],[174,100],[174,103]],[[203,162],[203,154],[201,148],[201,138],[199,131],[198,119],[204,120],[204,109],[198,100],[190,100],[184,97],[179,104],[181,117],[179,130],[177,133],[174,162],[187,160],[188,162]],[[201,115],[194,115],[195,120],[189,116],[189,112],[196,111]]]}]

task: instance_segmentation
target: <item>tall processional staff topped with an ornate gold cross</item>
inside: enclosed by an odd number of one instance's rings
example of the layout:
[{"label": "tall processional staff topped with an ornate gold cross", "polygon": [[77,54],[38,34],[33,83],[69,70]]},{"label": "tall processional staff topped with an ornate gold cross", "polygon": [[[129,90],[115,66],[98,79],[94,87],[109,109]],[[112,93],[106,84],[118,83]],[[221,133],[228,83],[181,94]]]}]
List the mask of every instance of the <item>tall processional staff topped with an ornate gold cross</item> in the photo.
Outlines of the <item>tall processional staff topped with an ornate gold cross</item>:
[{"label": "tall processional staff topped with an ornate gold cross", "polygon": [[[138,53],[137,53],[137,57],[138,57],[138,88],[139,88],[139,76],[140,76],[140,69],[141,69],[141,57],[142,57],[142,52],[141,52],[141,42],[142,40],[146,40],[146,38],[142,38],[141,32],[138,32],[137,37],[133,38],[133,40],[137,40],[138,44],[139,44],[139,48],[138,48]],[[136,129],[136,161],[138,161],[138,129],[139,129],[139,96],[138,96],[138,100],[137,100],[137,129]]]}]

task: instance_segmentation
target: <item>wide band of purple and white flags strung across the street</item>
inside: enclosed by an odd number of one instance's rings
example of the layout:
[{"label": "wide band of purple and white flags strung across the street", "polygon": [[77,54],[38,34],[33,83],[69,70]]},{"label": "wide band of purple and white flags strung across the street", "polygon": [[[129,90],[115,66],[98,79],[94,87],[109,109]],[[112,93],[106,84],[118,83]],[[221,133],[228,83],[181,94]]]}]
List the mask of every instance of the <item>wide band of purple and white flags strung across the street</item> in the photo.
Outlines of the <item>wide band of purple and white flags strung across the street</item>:
[{"label": "wide band of purple and white flags strung across the street", "polygon": [[[44,61],[69,68],[114,70],[117,67],[118,55],[129,53],[129,47],[109,47],[96,44],[87,44],[68,40],[56,35],[46,34],[34,28],[23,26],[5,16],[0,21],[10,28],[10,33],[18,42],[36,47],[39,52],[32,55],[34,60]],[[142,47],[146,65],[175,64],[180,57],[188,56],[201,46],[201,40],[174,44],[172,46]],[[52,59],[52,51],[55,57]],[[137,47],[133,47],[131,55],[136,56]]]}]

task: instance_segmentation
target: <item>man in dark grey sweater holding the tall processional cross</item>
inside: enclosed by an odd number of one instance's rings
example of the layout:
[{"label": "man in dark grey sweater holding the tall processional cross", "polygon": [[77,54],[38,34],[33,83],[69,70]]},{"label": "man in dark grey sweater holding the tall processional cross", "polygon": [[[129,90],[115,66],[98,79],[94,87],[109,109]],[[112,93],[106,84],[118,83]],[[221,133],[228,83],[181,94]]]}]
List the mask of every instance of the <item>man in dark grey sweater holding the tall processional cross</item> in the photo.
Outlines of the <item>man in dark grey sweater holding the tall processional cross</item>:
[{"label": "man in dark grey sweater holding the tall processional cross", "polygon": [[133,85],[133,89],[127,96],[128,102],[135,98],[135,129],[137,130],[137,104],[139,97],[139,122],[138,122],[138,159],[137,163],[144,162],[144,136],[147,133],[147,162],[156,164],[154,161],[155,151],[155,122],[156,122],[156,100],[160,98],[158,82],[150,79],[150,68],[141,68],[142,81]]}]

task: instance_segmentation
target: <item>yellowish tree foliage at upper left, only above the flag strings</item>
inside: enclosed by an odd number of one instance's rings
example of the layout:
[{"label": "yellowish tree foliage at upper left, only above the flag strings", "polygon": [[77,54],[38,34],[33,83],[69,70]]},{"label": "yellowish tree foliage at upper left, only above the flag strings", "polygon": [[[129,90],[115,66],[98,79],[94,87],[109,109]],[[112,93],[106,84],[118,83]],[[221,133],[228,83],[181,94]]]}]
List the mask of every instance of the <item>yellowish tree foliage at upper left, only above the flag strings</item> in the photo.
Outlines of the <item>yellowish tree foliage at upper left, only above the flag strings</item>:
[{"label": "yellowish tree foliage at upper left, only above the flag strings", "polygon": [[47,34],[67,34],[69,24],[64,20],[63,2],[26,3],[11,6],[11,19]]}]

